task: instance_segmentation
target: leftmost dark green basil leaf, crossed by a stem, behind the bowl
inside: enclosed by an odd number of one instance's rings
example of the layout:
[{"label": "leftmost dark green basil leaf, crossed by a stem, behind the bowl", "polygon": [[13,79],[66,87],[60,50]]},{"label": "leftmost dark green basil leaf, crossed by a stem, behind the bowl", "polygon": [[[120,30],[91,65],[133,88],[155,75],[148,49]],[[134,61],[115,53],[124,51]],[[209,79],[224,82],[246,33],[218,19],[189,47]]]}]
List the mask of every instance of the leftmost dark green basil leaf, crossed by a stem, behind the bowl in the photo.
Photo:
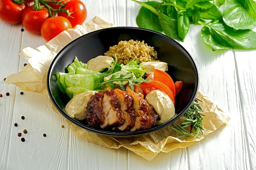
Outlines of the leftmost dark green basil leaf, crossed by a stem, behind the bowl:
[{"label": "leftmost dark green basil leaf, crossed by a stem, behind the bowl", "polygon": [[[145,2],[146,4],[156,7],[159,2]],[[163,32],[163,29],[159,23],[158,16],[145,7],[139,9],[139,13],[136,17],[136,23],[140,28],[150,29],[159,33]]]}]

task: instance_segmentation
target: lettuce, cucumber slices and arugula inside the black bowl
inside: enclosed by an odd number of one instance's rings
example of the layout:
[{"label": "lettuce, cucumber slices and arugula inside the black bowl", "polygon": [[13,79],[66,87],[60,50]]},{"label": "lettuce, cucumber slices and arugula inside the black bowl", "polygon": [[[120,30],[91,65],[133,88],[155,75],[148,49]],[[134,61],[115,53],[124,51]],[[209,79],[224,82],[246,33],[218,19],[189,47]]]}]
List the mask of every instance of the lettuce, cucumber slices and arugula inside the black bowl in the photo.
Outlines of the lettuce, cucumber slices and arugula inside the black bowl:
[{"label": "lettuce, cucumber slices and arugula inside the black bowl", "polygon": [[[118,72],[121,70],[126,70],[126,72],[121,73],[117,78]],[[105,84],[108,84],[108,88],[111,89],[120,86],[124,90],[122,83],[124,81],[128,81],[132,89],[132,82],[149,81],[149,79],[145,80],[142,78],[145,74],[145,70],[140,66],[139,62],[130,60],[126,65],[119,65],[117,64],[116,56],[113,62],[113,69],[105,69],[102,72],[89,70],[86,63],[79,61],[77,57],[75,57],[74,61],[67,67],[67,72],[68,73],[57,72],[56,82],[60,91],[67,94],[70,99],[85,91],[104,90],[106,89]],[[110,79],[104,81],[104,77],[108,77],[109,75],[112,75]],[[119,82],[119,84],[113,84],[113,82]]]}]

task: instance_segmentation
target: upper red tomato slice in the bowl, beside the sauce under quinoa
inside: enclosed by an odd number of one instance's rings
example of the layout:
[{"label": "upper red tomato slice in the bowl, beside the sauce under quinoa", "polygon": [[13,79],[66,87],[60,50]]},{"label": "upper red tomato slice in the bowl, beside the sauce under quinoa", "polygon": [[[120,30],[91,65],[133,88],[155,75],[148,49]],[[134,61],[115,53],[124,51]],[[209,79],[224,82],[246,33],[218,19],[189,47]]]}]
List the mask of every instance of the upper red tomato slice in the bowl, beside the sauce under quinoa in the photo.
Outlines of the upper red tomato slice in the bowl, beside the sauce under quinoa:
[{"label": "upper red tomato slice in the bowl, beside the sauce under quinoa", "polygon": [[166,84],[173,92],[173,95],[176,95],[173,79],[171,78],[170,75],[168,75],[168,73],[155,69],[154,72],[151,73],[147,78]]}]

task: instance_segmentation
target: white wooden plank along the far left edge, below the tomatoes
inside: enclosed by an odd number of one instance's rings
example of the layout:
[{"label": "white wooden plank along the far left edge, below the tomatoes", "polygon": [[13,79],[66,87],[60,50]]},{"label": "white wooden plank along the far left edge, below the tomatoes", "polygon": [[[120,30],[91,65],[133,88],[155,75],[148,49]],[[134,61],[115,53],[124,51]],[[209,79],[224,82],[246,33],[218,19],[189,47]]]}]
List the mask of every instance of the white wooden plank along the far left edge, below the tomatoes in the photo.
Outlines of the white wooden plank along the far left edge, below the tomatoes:
[{"label": "white wooden plank along the far left edge, below the tomatoes", "polygon": [[[4,78],[10,73],[17,73],[18,59],[17,55],[20,48],[22,26],[10,25],[0,21],[0,169],[7,169],[7,160],[9,152],[10,131],[13,128],[13,104],[16,86],[4,84]],[[6,96],[6,93],[10,96]]]}]

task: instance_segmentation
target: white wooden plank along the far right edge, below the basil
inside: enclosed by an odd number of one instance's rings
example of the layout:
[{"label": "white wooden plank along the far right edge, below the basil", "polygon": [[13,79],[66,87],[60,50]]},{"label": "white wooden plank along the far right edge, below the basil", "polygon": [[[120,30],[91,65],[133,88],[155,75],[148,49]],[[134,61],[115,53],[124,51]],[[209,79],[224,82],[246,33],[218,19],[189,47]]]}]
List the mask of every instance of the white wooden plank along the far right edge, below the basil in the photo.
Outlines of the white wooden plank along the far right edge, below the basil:
[{"label": "white wooden plank along the far right edge, below the basil", "polygon": [[256,50],[235,51],[241,104],[241,121],[245,128],[250,169],[256,169]]}]

